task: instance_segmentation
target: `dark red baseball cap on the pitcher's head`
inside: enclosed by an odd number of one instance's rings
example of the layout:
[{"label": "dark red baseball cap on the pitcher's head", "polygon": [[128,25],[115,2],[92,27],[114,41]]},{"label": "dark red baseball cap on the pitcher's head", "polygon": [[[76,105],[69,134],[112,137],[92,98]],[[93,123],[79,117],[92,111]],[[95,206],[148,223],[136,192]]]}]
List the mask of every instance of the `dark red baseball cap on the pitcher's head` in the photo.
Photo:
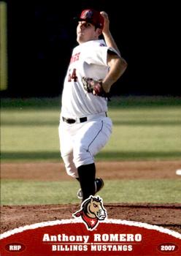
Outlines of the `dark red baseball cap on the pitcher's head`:
[{"label": "dark red baseball cap on the pitcher's head", "polygon": [[101,16],[100,12],[93,9],[86,9],[81,12],[81,15],[77,20],[86,21],[88,23],[93,24],[99,29],[103,29],[104,27],[104,18]]}]

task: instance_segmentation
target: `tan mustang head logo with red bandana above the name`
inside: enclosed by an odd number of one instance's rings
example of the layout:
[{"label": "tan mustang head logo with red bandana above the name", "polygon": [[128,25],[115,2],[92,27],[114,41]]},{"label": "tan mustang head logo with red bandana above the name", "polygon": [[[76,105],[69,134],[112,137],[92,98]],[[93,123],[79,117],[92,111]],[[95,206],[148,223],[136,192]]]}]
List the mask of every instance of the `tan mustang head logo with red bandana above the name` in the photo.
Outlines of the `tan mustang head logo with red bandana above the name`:
[{"label": "tan mustang head logo with red bandana above the name", "polygon": [[99,224],[99,221],[107,217],[107,211],[104,209],[101,198],[90,195],[81,206],[80,211],[72,214],[73,217],[82,217],[88,230],[93,230]]}]

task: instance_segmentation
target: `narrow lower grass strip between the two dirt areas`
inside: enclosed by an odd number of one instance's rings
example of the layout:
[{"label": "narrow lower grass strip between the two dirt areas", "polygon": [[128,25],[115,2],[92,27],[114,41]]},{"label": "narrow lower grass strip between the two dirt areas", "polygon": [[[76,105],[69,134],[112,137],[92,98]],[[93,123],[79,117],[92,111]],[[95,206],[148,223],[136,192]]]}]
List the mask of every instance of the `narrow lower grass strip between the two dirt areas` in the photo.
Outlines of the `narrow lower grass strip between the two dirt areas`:
[{"label": "narrow lower grass strip between the two dirt areas", "polygon": [[[69,192],[67,192],[69,188]],[[78,203],[76,181],[4,180],[2,205]],[[99,196],[107,203],[181,203],[178,180],[109,180]]]}]

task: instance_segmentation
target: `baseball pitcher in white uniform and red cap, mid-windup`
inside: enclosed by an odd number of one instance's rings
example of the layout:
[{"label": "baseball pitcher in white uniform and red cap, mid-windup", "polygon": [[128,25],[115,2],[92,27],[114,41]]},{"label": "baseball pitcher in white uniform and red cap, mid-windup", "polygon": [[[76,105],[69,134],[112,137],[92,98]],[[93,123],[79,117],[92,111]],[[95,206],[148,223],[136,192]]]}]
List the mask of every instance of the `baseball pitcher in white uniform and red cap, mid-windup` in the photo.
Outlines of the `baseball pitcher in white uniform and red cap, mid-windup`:
[{"label": "baseball pitcher in white uniform and red cap, mid-windup", "polygon": [[[104,181],[96,178],[94,156],[112,133],[108,93],[127,63],[109,31],[106,12],[83,10],[77,22],[78,45],[63,84],[58,131],[66,172],[80,182],[77,197],[83,201],[104,186]],[[104,39],[99,39],[101,34]]]}]

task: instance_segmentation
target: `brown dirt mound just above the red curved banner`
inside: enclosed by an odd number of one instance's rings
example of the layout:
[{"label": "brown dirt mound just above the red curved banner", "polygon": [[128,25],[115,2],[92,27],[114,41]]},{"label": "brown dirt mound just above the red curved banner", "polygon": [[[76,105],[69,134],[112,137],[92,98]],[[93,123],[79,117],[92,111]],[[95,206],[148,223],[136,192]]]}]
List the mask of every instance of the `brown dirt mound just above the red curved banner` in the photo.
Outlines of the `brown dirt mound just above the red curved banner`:
[{"label": "brown dirt mound just above the red curved banner", "polygon": [[[104,204],[109,219],[126,219],[166,227],[181,233],[181,204]],[[80,205],[2,206],[1,233],[16,227],[56,219],[72,219]]]}]

